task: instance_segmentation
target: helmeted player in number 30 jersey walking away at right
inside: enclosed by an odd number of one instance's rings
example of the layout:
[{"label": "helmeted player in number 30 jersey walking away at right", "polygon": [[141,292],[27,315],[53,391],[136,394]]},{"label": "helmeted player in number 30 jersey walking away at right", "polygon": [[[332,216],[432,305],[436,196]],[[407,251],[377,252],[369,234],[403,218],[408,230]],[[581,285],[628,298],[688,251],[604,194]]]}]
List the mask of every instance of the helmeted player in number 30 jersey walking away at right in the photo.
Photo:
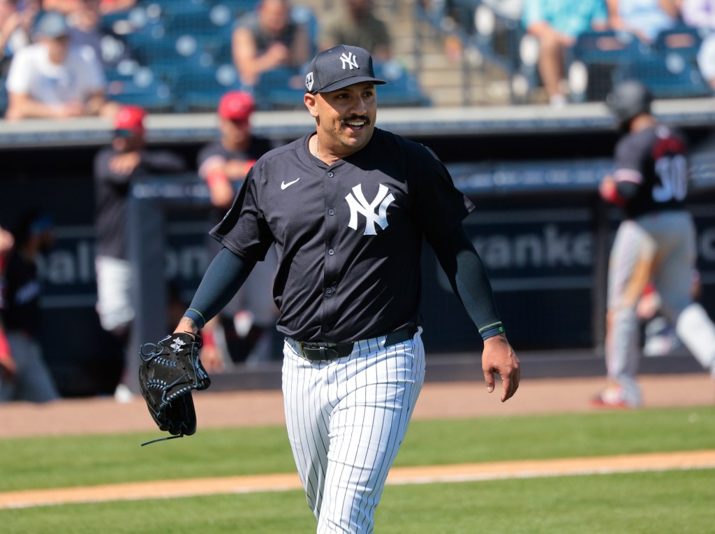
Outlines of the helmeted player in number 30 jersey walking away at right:
[{"label": "helmeted player in number 30 jersey walking away at right", "polygon": [[608,386],[596,407],[637,407],[638,299],[652,283],[661,311],[696,359],[715,376],[715,326],[691,296],[696,260],[695,228],[685,208],[689,170],[680,132],[651,114],[643,84],[619,84],[608,107],[626,132],[616,145],[616,171],[601,183],[601,197],[623,209],[608,263],[606,367]]}]

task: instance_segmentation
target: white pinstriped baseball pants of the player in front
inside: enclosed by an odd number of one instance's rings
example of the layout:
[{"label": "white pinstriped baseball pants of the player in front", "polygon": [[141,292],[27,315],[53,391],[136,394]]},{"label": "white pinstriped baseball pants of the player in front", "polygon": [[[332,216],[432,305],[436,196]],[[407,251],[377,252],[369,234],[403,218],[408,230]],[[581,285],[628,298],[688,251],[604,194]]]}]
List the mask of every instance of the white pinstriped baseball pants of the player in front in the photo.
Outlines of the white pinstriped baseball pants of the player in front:
[{"label": "white pinstriped baseball pants of the player in front", "polygon": [[372,533],[383,493],[425,379],[420,331],[385,347],[359,341],[352,354],[310,361],[283,349],[288,438],[317,533]]}]

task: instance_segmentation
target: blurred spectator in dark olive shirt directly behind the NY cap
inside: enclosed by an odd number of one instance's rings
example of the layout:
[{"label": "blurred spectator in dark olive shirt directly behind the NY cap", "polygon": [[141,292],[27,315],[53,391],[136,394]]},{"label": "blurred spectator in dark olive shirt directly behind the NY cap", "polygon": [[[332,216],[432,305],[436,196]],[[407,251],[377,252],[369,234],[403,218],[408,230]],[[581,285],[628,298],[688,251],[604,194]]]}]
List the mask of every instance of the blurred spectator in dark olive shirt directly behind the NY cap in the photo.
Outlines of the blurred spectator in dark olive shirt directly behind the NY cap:
[{"label": "blurred spectator in dark olive shirt directly behind the NY cap", "polygon": [[375,16],[373,0],[345,0],[322,27],[320,48],[327,50],[338,44],[364,48],[376,62],[392,56],[392,39],[385,22]]}]

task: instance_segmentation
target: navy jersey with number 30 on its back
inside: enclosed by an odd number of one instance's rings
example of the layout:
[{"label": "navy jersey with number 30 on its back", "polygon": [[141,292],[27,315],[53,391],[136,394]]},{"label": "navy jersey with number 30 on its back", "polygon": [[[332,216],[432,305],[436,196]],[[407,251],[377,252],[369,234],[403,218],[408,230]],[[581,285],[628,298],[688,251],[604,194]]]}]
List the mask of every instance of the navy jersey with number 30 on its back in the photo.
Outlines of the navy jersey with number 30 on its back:
[{"label": "navy jersey with number 30 on its back", "polygon": [[656,125],[626,135],[616,145],[618,193],[626,217],[684,208],[688,190],[686,142],[676,130]]}]

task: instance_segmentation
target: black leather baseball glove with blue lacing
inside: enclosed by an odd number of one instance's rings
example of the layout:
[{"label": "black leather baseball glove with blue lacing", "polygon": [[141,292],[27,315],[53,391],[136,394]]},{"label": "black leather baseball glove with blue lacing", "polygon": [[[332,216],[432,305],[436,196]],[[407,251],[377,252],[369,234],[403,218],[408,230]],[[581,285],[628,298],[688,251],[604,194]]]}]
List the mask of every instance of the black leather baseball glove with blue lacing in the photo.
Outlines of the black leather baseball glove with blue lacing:
[{"label": "black leather baseball glove with blue lacing", "polygon": [[200,336],[171,334],[157,344],[147,343],[139,349],[142,396],[159,430],[167,431],[173,437],[190,436],[196,432],[191,392],[211,385],[199,360],[201,345]]}]

